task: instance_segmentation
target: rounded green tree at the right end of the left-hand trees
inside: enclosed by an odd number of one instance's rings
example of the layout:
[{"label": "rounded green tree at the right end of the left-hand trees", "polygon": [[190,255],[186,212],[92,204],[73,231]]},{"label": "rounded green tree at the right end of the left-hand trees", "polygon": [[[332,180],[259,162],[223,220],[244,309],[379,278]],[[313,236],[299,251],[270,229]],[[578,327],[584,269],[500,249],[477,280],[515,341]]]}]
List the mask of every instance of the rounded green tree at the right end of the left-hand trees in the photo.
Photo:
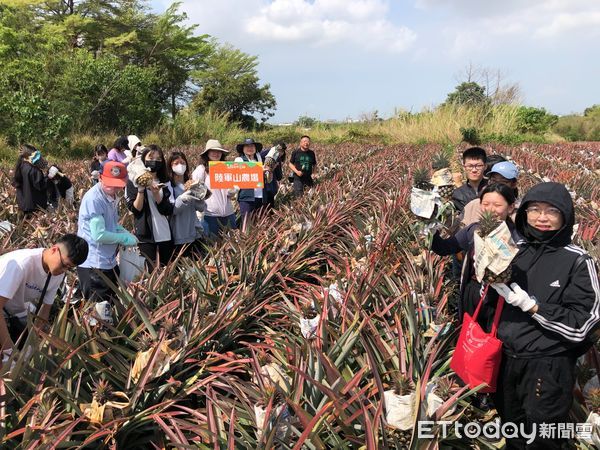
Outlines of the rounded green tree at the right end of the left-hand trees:
[{"label": "rounded green tree at the right end of the left-hand trees", "polygon": [[247,128],[256,125],[255,115],[265,122],[273,116],[275,97],[269,84],[260,85],[257,57],[229,45],[217,46],[207,60],[207,67],[194,72],[200,91],[193,105],[200,111],[209,109],[229,114],[232,121]]}]

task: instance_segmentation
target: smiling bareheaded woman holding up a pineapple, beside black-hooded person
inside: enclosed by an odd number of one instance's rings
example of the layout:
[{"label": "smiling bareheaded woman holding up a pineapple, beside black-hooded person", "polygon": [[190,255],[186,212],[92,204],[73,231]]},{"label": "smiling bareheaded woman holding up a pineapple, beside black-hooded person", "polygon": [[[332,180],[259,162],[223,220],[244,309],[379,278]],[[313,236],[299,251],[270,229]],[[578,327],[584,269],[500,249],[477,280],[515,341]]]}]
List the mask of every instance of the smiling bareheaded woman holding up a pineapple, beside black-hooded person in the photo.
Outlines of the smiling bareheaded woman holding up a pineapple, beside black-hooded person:
[{"label": "smiling bareheaded woman holding up a pineapple, beside black-hooded person", "polygon": [[[515,194],[514,190],[504,184],[491,184],[481,192],[480,202],[481,210],[492,212],[497,219],[505,221],[514,242],[520,240],[519,234],[515,230],[514,223],[510,215],[514,211]],[[475,231],[479,223],[475,222],[461,229],[454,236],[448,239],[440,237],[439,233],[433,236],[431,250],[440,255],[453,255],[460,251],[466,252],[465,263],[460,282],[460,300],[458,305],[459,321],[462,321],[463,314],[473,315],[481,299],[481,283],[477,281],[474,266],[475,251]],[[488,290],[485,303],[482,305],[478,322],[485,331],[489,331],[493,319],[496,301],[498,296],[492,289]]]}]

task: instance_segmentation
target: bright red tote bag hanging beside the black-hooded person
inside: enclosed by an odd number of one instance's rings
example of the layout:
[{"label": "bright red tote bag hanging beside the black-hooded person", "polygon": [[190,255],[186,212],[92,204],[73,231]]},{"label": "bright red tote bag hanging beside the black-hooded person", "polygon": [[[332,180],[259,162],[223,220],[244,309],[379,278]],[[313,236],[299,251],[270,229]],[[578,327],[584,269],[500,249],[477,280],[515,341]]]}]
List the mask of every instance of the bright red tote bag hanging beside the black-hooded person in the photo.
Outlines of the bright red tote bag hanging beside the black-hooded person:
[{"label": "bright red tote bag hanging beside the black-hooded person", "polygon": [[477,316],[487,294],[486,286],[473,317],[465,313],[462,329],[456,343],[456,350],[450,360],[450,368],[456,372],[471,389],[486,384],[479,392],[496,392],[496,381],[502,360],[502,342],[496,337],[504,298],[498,298],[492,330],[483,331],[477,323]]}]

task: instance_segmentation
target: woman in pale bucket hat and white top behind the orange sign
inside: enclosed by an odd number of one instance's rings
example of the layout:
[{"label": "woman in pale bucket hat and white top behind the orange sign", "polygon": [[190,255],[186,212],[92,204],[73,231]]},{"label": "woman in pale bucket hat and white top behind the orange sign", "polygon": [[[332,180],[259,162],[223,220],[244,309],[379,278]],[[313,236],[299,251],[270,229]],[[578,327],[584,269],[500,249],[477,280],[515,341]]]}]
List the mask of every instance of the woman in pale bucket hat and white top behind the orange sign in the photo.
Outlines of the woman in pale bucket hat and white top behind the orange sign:
[{"label": "woman in pale bucket hat and white top behind the orange sign", "polygon": [[216,139],[206,142],[200,154],[200,164],[192,172],[192,180],[204,183],[212,195],[206,200],[204,224],[209,237],[216,238],[225,228],[236,228],[235,210],[231,199],[237,195],[237,189],[211,189],[209,176],[210,161],[225,161],[229,150],[226,150]]}]

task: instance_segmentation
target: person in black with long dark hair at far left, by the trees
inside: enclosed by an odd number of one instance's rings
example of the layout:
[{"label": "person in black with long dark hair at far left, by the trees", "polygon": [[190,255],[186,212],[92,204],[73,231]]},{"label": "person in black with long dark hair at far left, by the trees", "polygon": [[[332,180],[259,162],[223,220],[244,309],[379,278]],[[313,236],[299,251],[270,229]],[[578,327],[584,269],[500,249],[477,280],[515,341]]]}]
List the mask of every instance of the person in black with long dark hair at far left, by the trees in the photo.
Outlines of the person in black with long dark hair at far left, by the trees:
[{"label": "person in black with long dark hair at far left, by the trees", "polygon": [[13,186],[17,204],[25,215],[48,207],[47,178],[42,169],[47,162],[33,145],[24,144],[15,166]]}]

